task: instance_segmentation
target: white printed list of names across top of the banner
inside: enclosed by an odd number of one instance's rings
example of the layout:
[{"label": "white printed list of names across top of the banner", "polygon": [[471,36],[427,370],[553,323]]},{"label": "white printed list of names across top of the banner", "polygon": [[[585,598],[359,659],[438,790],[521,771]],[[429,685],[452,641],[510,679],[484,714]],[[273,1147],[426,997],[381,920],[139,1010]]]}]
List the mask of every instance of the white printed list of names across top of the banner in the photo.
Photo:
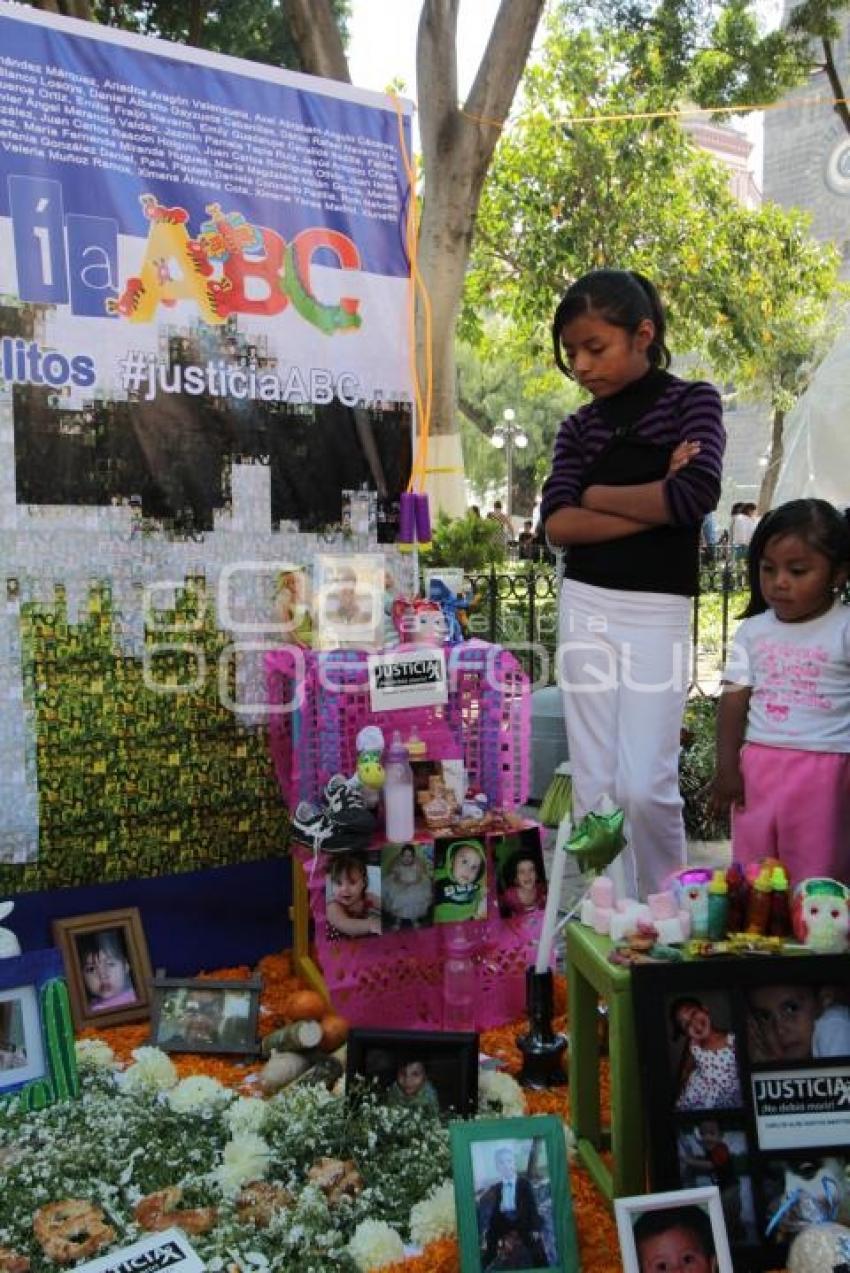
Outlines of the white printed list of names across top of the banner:
[{"label": "white printed list of names across top of the banner", "polygon": [[223,195],[400,216],[396,150],[386,141],[6,56],[0,148]]}]

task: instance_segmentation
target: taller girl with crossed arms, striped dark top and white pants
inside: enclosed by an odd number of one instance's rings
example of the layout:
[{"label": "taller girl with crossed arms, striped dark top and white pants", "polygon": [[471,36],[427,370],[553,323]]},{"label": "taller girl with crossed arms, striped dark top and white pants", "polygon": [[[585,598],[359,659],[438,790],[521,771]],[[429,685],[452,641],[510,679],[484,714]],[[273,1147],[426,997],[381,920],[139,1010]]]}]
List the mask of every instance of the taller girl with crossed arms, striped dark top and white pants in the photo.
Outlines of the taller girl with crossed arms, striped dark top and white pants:
[{"label": "taller girl with crossed arms, striped dark top and white pants", "polygon": [[626,270],[578,279],[552,321],[555,362],[592,401],[561,424],[541,518],[564,546],[559,681],[576,820],[626,813],[627,887],[685,863],[678,787],[700,527],[720,496],[720,395],[671,376],[655,288]]}]

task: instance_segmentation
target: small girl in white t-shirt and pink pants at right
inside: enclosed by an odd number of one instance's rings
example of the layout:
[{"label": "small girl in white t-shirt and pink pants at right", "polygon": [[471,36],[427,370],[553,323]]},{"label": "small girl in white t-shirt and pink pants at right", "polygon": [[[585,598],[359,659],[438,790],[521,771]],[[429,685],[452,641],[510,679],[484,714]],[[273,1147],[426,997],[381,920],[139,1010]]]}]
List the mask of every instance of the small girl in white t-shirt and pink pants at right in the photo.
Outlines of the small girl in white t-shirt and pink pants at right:
[{"label": "small girl in white t-shirt and pink pants at right", "polygon": [[822,499],[767,513],[749,545],[749,605],[718,714],[715,810],[739,862],[791,883],[850,882],[850,569],[846,517]]}]

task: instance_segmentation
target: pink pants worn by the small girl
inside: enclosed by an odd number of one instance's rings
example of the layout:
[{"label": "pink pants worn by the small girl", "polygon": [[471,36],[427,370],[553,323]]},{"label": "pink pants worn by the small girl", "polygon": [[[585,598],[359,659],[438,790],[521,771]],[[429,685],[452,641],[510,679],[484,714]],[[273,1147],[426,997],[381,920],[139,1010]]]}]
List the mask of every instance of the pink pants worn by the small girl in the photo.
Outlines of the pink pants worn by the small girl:
[{"label": "pink pants worn by the small girl", "polygon": [[850,755],[748,742],[744,808],[732,813],[735,862],[779,858],[791,886],[812,876],[850,883]]}]

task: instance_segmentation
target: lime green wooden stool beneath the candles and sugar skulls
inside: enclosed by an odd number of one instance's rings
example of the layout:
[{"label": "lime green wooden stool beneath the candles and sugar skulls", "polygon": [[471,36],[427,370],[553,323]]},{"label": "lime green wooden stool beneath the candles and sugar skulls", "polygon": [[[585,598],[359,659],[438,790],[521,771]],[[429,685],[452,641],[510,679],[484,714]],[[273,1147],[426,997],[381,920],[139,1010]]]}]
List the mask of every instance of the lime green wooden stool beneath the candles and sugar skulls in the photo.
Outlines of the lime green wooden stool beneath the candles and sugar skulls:
[{"label": "lime green wooden stool beneath the candles and sugar skulls", "polygon": [[[566,925],[570,1015],[570,1106],[576,1152],[608,1202],[645,1193],[644,1108],[638,1071],[631,973],[608,962],[612,942],[579,923]],[[608,1009],[611,1127],[599,1101],[599,999]],[[608,1166],[602,1152],[610,1150]]]}]

